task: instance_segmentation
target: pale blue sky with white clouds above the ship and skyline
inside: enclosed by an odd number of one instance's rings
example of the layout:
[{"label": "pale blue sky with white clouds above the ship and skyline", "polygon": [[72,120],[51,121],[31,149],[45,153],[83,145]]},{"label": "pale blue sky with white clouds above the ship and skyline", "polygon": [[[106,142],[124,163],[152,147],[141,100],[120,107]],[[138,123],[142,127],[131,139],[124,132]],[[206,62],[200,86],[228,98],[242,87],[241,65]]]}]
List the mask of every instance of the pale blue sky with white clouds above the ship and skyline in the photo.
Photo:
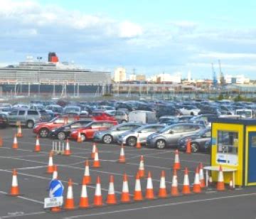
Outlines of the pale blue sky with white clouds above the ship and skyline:
[{"label": "pale blue sky with white clouds above the ship and skyline", "polygon": [[131,73],[256,79],[256,1],[0,0],[0,65],[55,51],[62,61]]}]

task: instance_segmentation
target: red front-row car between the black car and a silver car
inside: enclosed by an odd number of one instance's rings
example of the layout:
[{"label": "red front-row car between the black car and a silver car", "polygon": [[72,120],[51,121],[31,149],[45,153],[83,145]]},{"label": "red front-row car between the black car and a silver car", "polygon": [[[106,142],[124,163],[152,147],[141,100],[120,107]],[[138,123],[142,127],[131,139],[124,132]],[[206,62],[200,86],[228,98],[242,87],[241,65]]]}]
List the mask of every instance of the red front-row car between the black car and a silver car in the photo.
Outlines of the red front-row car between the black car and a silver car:
[{"label": "red front-row car between the black car and a silver car", "polygon": [[93,139],[95,132],[110,129],[115,125],[117,125],[117,121],[93,121],[87,124],[87,126],[71,132],[70,139],[78,140],[78,132],[81,134],[82,141]]}]

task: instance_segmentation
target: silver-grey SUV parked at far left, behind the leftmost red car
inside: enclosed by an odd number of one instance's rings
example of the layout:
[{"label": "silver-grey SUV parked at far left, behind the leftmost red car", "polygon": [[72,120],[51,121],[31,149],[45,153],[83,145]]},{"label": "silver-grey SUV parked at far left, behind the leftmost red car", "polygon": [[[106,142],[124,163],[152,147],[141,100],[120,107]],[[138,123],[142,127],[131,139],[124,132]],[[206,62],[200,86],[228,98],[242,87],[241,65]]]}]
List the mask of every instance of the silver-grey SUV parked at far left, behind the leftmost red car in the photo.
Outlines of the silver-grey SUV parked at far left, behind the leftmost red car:
[{"label": "silver-grey SUV parked at far left, behind the leftmost red car", "polygon": [[21,125],[32,129],[36,122],[49,121],[50,115],[45,110],[15,109],[7,116],[7,119],[10,125],[20,122]]}]

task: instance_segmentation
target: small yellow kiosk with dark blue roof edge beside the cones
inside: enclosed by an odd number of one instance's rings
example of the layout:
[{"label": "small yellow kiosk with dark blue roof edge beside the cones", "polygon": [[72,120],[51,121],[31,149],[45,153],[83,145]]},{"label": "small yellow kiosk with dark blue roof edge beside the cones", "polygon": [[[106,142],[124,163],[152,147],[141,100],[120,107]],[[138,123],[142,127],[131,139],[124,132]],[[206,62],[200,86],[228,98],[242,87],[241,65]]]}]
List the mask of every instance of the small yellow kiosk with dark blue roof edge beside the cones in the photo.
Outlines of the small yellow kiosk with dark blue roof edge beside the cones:
[{"label": "small yellow kiosk with dark blue roof edge beside the cones", "polygon": [[223,166],[224,181],[235,186],[256,185],[256,119],[213,118],[210,164],[213,181]]}]

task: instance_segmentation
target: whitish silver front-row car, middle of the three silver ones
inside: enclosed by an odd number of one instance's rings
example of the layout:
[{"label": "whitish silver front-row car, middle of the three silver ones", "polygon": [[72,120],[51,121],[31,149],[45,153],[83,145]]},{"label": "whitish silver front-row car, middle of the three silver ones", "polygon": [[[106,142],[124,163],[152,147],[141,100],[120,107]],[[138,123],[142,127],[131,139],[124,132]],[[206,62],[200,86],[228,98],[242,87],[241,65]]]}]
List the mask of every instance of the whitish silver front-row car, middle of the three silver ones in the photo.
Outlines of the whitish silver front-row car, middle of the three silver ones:
[{"label": "whitish silver front-row car, middle of the three silver ones", "polygon": [[138,129],[124,132],[124,134],[119,135],[117,137],[117,143],[136,146],[137,139],[139,138],[139,141],[144,144],[146,143],[146,137],[148,137],[150,134],[159,132],[164,127],[164,124],[146,124],[142,127],[139,127]]}]

